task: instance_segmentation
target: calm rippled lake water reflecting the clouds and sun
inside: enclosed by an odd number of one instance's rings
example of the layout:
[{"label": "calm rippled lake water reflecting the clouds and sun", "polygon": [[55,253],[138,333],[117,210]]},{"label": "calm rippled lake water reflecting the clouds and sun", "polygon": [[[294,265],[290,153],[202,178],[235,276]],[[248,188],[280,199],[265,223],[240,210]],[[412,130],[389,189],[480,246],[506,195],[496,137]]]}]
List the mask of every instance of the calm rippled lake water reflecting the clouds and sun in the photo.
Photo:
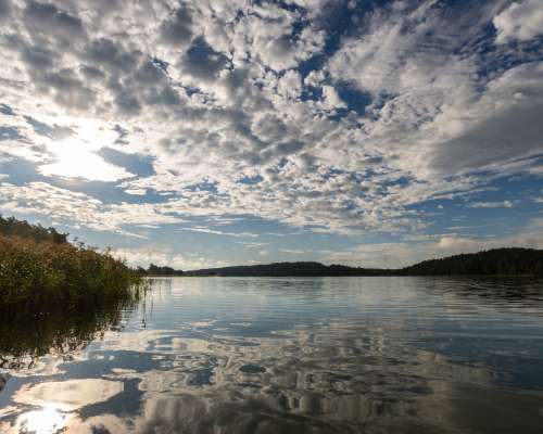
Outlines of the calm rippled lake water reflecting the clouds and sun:
[{"label": "calm rippled lake water reflecting the clouds and sun", "polygon": [[543,433],[543,283],[155,280],[0,326],[2,433]]}]

